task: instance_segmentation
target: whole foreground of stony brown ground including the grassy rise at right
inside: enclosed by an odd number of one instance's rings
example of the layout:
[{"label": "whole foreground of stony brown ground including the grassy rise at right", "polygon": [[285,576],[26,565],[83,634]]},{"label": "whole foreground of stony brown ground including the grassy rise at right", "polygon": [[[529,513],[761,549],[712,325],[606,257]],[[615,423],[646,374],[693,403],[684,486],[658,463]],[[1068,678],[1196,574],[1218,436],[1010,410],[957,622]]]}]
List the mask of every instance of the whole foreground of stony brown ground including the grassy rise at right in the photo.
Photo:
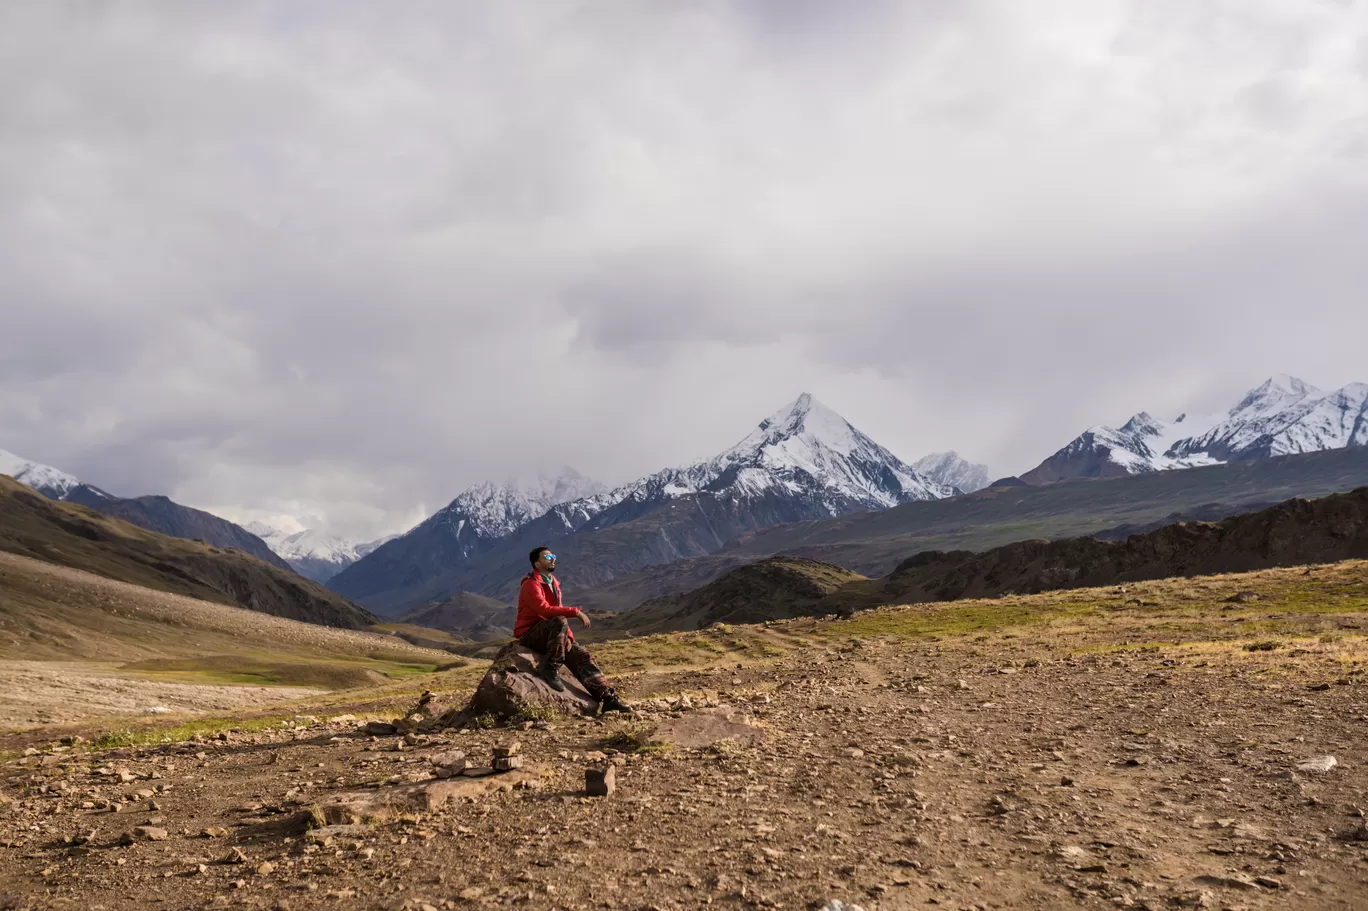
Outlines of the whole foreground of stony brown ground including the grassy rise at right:
[{"label": "whole foreground of stony brown ground including the grassy rise at right", "polygon": [[[605,643],[610,673],[655,657],[617,674],[640,719],[402,751],[354,722],[48,750],[0,778],[0,882],[8,907],[107,910],[1363,908],[1368,564],[1306,573]],[[1260,596],[1227,600],[1241,591]],[[658,669],[670,654],[680,669]],[[654,702],[680,694],[722,707]],[[685,748],[651,732],[696,733],[679,722],[699,713],[763,737]],[[298,828],[312,804],[431,776],[432,754],[483,763],[514,737],[547,770],[539,788],[321,845]],[[617,763],[603,799],[581,793],[595,751]],[[1328,771],[1297,770],[1326,755]],[[159,785],[152,810],[135,792]],[[82,808],[104,800],[122,813]],[[166,840],[118,847],[152,818]]]}]

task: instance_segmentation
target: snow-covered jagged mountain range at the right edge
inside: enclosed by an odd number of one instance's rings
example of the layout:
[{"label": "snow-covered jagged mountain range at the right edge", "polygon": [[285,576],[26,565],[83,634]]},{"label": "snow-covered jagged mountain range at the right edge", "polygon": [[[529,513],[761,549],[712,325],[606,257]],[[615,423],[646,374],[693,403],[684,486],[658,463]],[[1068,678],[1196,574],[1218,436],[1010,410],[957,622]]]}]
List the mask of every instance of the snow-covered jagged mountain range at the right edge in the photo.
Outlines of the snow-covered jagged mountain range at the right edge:
[{"label": "snow-covered jagged mountain range at the right edge", "polygon": [[1122,477],[1356,446],[1368,446],[1368,383],[1327,393],[1278,375],[1224,414],[1170,423],[1141,412],[1119,428],[1089,428],[1022,480]]}]

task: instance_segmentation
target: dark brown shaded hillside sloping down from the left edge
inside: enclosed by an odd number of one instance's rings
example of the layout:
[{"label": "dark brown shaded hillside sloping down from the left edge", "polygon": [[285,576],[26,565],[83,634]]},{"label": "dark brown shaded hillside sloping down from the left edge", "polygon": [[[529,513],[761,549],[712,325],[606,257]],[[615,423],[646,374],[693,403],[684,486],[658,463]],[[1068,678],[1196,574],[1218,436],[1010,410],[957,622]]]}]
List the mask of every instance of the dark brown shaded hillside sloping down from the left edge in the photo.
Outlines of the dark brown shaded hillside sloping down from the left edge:
[{"label": "dark brown shaded hillside sloping down from the left edge", "polygon": [[51,501],[3,476],[0,550],[290,620],[347,629],[375,622],[323,585],[242,551],[144,531],[85,506]]}]

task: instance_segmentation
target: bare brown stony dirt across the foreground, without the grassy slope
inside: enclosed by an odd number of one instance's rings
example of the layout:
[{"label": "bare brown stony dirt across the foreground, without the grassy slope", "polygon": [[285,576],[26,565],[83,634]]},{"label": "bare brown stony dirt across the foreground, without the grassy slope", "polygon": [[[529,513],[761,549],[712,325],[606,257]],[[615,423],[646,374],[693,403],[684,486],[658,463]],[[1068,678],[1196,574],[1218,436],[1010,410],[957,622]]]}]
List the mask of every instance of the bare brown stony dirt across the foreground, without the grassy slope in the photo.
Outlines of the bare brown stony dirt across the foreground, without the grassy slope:
[{"label": "bare brown stony dirt across the foreground, without the grassy slope", "polygon": [[[869,683],[854,661],[888,683]],[[34,907],[90,907],[90,895],[105,908],[146,907],[150,895],[167,907],[261,908],[1368,903],[1368,843],[1343,839],[1368,792],[1357,685],[1265,684],[1234,663],[1163,652],[1011,661],[865,644],[806,666],[637,681],[658,687],[717,688],[767,739],[618,755],[617,793],[590,800],[577,796],[586,754],[624,722],[521,732],[528,756],[554,769],[544,789],[326,848],[253,834],[253,823],[267,807],[423,770],[439,748],[480,755],[510,735],[378,752],[393,744],[311,729],[104,756],[160,774],[130,784],[92,776],[89,762],[30,758],[7,788],[26,796],[0,830],[0,873]],[[1326,754],[1338,758],[1328,773],[1295,771]],[[159,784],[170,789],[157,810],[129,796]],[[122,813],[81,808],[120,797]],[[168,840],[104,847],[149,817]],[[228,834],[194,837],[213,828]],[[93,851],[57,847],[86,830]],[[218,863],[234,847],[248,863]],[[274,869],[253,873],[265,860]],[[354,896],[328,897],[339,892]]]}]

